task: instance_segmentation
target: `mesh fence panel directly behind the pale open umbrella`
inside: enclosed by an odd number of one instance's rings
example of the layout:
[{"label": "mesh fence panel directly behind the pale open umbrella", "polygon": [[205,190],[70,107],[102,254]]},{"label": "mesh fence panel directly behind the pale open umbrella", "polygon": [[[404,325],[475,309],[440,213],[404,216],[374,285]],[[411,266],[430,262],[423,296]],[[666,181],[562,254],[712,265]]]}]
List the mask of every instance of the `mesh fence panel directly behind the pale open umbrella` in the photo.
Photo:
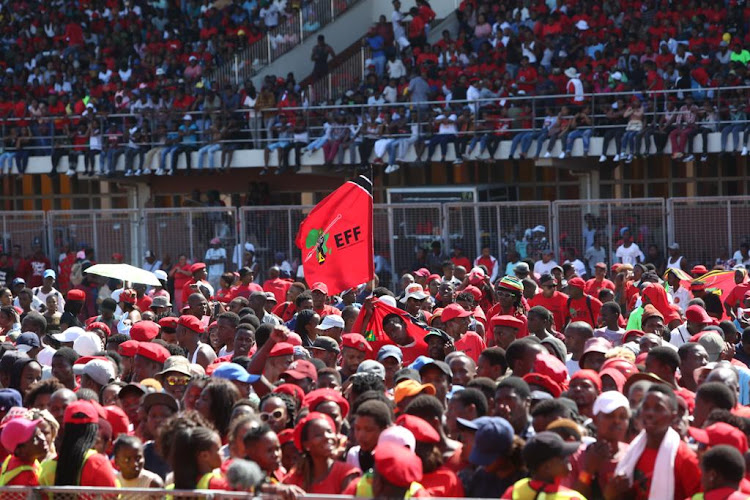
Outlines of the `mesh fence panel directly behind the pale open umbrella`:
[{"label": "mesh fence panel directly behind the pale open umbrella", "polygon": [[141,261],[139,238],[140,211],[113,210],[50,210],[47,212],[49,255],[57,256],[65,249],[94,249],[94,260],[111,262],[119,253],[125,262]]}]

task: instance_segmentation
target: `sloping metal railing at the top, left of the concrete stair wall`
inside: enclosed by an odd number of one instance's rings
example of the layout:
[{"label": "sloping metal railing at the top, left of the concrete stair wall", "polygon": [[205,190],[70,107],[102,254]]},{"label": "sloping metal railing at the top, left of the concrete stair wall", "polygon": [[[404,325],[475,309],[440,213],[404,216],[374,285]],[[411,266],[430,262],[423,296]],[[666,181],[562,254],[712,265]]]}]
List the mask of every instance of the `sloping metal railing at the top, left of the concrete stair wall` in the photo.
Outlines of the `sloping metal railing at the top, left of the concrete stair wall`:
[{"label": "sloping metal railing at the top, left of the concrete stair wall", "polygon": [[287,52],[299,46],[349,10],[359,0],[314,0],[291,15],[279,15],[279,24],[263,37],[236,53],[232,60],[216,68],[209,80],[220,85],[242,85]]}]

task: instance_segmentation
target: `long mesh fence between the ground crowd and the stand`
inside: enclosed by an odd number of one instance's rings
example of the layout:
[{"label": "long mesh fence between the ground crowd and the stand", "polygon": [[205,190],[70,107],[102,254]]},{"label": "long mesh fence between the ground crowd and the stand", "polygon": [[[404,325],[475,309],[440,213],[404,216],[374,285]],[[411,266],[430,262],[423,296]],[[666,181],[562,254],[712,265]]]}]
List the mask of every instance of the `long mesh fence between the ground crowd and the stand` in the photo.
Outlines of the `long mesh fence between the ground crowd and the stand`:
[{"label": "long mesh fence between the ground crowd and the stand", "polygon": [[[157,259],[176,262],[180,254],[204,260],[211,239],[226,250],[226,270],[235,270],[245,243],[255,247],[259,278],[276,253],[298,264],[295,238],[312,205],[249,207],[180,207],[110,210],[0,212],[2,251],[20,245],[24,255],[35,245],[57,262],[66,248],[94,249],[97,262],[119,253],[125,262],[143,263],[147,250]],[[538,259],[551,248],[558,262],[573,249],[583,260],[592,230],[601,237],[608,262],[615,261],[621,231],[629,228],[644,254],[649,245],[666,253],[677,242],[690,262],[711,266],[750,242],[750,197],[639,198],[560,200],[554,202],[392,203],[376,204],[373,213],[378,274],[388,285],[420,264],[417,252],[440,242],[443,255],[456,246],[474,259],[489,247],[503,266],[506,253]],[[63,255],[64,256],[64,255]],[[435,262],[436,259],[432,258]],[[234,264],[237,262],[238,264]]]}]

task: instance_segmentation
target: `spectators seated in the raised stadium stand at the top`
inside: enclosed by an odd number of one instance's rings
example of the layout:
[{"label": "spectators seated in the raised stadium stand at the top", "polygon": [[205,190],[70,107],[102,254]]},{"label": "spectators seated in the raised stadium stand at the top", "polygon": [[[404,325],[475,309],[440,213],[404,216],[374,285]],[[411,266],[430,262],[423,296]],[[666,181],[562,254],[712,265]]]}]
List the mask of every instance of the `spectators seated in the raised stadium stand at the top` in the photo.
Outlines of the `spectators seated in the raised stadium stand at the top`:
[{"label": "spectators seated in the raised stadium stand at the top", "polygon": [[[594,136],[601,162],[667,144],[675,160],[706,161],[711,133],[721,151],[747,155],[744,4],[464,0],[457,35],[430,44],[429,3],[407,11],[395,0],[390,19],[363,33],[364,78],[340,89],[336,104],[352,107],[306,108],[317,104],[298,83],[306,75],[268,75],[259,90],[208,77],[284,18],[313,16],[315,3],[128,0],[68,12],[6,2],[3,26],[16,36],[1,47],[0,173],[48,155],[53,176],[65,157],[69,176],[79,162],[83,175],[113,176],[120,158],[123,175],[168,175],[182,156],[193,168],[193,153],[195,167],[225,170],[250,148],[266,151],[264,173],[272,154],[284,173],[320,149],[328,167],[375,162],[392,173],[445,161],[450,144],[456,163],[491,160],[505,140],[511,158],[566,158],[578,139],[588,154]],[[329,70],[320,38],[309,81]]]}]

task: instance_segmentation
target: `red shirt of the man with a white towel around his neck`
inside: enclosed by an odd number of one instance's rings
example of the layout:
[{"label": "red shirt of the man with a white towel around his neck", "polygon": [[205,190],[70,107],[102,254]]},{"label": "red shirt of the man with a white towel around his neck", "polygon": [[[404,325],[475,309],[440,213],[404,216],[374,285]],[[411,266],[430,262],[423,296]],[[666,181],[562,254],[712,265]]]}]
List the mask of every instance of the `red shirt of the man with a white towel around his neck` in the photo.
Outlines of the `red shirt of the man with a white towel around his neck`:
[{"label": "red shirt of the man with a white towel around his neck", "polygon": [[[659,450],[646,448],[638,459],[633,471],[632,497],[634,500],[647,500],[651,489],[651,479]],[[677,448],[674,460],[674,500],[683,500],[701,490],[701,471],[698,457],[684,441]],[[666,499],[665,499],[666,500]]]}]

